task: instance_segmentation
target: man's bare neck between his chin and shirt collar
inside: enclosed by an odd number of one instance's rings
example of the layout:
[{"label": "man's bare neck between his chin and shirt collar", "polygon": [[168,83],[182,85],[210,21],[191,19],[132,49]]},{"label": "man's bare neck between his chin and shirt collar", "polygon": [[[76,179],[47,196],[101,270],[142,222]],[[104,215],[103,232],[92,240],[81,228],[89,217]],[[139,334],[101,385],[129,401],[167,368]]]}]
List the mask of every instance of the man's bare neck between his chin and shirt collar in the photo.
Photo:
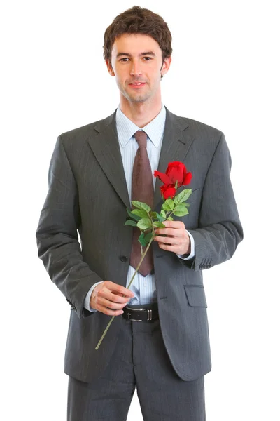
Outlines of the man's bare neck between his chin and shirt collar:
[{"label": "man's bare neck between his chin and shirt collar", "polygon": [[[148,101],[147,101],[148,102]],[[138,127],[145,127],[160,113],[162,109],[161,100],[156,104],[147,102],[128,102],[120,100],[120,109]]]}]

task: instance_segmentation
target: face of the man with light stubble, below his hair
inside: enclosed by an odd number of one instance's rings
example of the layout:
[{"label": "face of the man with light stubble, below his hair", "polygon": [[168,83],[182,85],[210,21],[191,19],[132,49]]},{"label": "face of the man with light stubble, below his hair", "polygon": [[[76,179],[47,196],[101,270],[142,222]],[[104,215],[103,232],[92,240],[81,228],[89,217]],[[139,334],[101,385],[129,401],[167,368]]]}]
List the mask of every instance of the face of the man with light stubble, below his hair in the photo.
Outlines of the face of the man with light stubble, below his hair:
[{"label": "face of the man with light stubble, below his hair", "polygon": [[151,36],[123,34],[114,42],[111,63],[106,60],[106,65],[123,97],[145,102],[160,98],[160,76],[167,73],[170,62],[166,58],[162,65],[162,51]]}]

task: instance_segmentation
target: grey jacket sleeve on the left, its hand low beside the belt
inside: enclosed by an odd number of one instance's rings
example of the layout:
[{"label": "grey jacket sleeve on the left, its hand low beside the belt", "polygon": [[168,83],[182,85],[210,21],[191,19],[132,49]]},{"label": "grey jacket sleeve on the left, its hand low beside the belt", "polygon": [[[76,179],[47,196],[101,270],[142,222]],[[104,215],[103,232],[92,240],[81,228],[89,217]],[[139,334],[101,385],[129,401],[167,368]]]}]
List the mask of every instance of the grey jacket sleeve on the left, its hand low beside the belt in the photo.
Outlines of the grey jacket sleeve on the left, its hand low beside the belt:
[{"label": "grey jacket sleeve on the left, its hand low beside the belt", "polygon": [[71,309],[79,317],[87,317],[94,314],[83,307],[87,292],[103,279],[83,261],[77,232],[80,225],[78,189],[62,135],[57,138],[52,154],[48,184],[36,231],[38,257]]}]

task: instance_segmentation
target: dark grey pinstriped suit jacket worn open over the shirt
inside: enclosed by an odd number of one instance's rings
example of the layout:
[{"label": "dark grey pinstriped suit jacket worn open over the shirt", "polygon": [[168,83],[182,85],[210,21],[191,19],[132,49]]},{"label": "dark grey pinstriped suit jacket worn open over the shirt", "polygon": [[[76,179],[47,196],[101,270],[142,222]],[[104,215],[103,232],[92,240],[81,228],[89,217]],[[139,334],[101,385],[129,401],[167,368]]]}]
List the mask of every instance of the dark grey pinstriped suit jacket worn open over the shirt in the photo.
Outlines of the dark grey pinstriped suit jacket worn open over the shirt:
[{"label": "dark grey pinstriped suit jacket worn open over the shirt", "polygon": [[[221,131],[167,109],[158,171],[165,172],[170,161],[182,161],[193,173],[189,215],[174,220],[183,221],[193,234],[195,258],[181,260],[154,241],[155,284],[172,366],[182,380],[195,380],[211,370],[202,271],[230,259],[243,232],[230,182],[230,152]],[[157,180],[155,185],[158,212],[161,184]],[[83,302],[98,281],[126,286],[132,248],[126,208],[131,206],[116,112],[59,135],[36,237],[38,256],[71,305],[64,371],[83,382],[102,375],[118,341],[121,316],[95,350],[111,316],[88,312]]]}]

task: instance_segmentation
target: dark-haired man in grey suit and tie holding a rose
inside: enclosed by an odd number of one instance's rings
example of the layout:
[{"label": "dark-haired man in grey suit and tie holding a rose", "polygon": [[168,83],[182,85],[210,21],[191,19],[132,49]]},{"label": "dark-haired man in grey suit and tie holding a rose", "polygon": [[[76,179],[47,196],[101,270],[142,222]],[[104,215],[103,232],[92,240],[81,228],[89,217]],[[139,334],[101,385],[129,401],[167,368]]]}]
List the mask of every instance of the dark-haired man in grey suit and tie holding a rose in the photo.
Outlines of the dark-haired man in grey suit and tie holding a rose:
[{"label": "dark-haired man in grey suit and tie holding a rose", "polygon": [[[147,9],[118,15],[105,32],[104,58],[120,105],[59,135],[52,154],[36,236],[38,255],[73,310],[65,355],[71,421],[126,420],[136,385],[146,421],[205,419],[211,356],[202,270],[230,259],[243,232],[223,133],[162,105],[171,41],[165,21]],[[141,197],[139,154],[149,166],[140,171]],[[157,230],[147,272],[128,290],[137,241],[126,208],[153,179],[160,211],[161,183],[151,173],[172,161],[193,173],[190,213]]]}]

